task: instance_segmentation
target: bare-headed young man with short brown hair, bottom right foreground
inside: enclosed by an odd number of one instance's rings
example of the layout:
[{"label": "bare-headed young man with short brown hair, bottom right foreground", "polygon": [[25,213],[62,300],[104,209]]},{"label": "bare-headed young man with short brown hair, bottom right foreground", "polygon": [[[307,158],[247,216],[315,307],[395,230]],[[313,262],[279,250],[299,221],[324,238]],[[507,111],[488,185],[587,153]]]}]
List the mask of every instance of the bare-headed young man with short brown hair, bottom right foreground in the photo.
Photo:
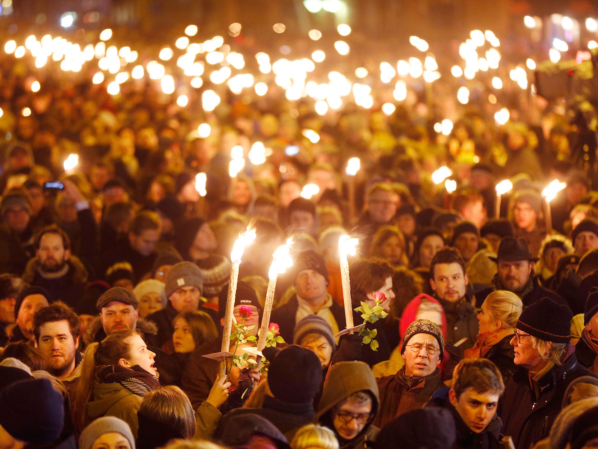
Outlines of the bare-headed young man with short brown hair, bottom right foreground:
[{"label": "bare-headed young man with short brown hair, bottom right foreground", "polygon": [[487,359],[465,359],[454,369],[453,387],[438,390],[428,403],[454,418],[453,449],[501,449],[502,421],[496,413],[505,390],[501,373]]}]

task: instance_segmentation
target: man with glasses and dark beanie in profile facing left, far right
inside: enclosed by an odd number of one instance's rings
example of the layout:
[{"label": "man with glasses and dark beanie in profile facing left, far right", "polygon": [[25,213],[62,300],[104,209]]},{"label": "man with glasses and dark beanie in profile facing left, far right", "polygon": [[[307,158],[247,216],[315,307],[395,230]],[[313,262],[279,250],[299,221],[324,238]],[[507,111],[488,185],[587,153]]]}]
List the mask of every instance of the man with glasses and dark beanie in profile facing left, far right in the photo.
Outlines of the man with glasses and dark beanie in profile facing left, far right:
[{"label": "man with glasses and dark beanie in profile facing left, far right", "polygon": [[569,384],[592,376],[579,365],[570,344],[568,307],[542,298],[523,310],[511,339],[515,365],[520,366],[505,387],[499,404],[504,423],[517,449],[529,449],[546,438],[559,414]]}]

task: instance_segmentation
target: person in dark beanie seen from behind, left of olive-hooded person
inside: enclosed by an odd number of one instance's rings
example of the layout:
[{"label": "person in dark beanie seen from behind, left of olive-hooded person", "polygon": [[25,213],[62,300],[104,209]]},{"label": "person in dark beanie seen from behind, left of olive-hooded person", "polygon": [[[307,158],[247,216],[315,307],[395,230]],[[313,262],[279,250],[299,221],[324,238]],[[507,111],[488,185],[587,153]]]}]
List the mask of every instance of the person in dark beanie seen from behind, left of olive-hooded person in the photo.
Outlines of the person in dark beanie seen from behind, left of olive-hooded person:
[{"label": "person in dark beanie seen from behind, left of olive-hooded person", "polygon": [[254,413],[269,420],[287,439],[316,414],[313,398],[318,394],[322,380],[322,366],[316,354],[309,349],[291,345],[279,350],[264,349],[264,357],[270,362],[268,389],[261,408],[237,408],[222,417],[214,433],[218,439],[232,417]]}]

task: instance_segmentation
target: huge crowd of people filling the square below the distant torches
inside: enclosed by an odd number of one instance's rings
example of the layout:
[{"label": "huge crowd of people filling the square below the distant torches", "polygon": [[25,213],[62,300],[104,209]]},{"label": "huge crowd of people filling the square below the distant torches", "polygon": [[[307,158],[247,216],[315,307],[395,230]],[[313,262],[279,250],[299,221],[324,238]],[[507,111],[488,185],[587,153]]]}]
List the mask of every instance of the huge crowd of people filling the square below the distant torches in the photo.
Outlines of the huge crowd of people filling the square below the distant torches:
[{"label": "huge crowd of people filling the square below the distant torches", "polygon": [[[272,93],[205,114],[150,83],[112,96],[48,73],[33,93],[25,60],[0,65],[1,448],[598,445],[597,180],[576,163],[587,128],[559,108],[504,126],[469,111],[444,136],[417,101],[320,116]],[[456,189],[434,181],[441,165]],[[247,229],[245,333],[220,362],[206,356],[230,332]],[[338,336],[343,235],[359,239],[350,300],[367,335]],[[381,318],[364,323],[366,306]]]}]

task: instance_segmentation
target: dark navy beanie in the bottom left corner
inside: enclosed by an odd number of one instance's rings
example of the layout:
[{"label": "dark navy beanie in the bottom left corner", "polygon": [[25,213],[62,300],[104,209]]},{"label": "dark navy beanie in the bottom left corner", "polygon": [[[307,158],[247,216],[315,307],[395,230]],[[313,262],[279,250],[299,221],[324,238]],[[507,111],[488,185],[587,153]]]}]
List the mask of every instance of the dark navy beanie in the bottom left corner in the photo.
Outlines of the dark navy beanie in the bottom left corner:
[{"label": "dark navy beanie in the bottom left corner", "polygon": [[30,444],[50,443],[62,432],[64,401],[47,379],[20,380],[0,392],[0,426]]}]

